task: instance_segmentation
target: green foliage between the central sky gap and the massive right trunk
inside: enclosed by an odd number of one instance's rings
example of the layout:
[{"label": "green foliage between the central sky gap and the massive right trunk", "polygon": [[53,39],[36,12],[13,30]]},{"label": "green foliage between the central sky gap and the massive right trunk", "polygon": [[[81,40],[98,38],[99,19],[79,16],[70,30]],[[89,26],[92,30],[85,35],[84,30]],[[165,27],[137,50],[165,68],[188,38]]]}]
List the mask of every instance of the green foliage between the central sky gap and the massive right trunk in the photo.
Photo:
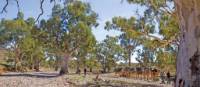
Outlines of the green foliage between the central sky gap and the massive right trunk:
[{"label": "green foliage between the central sky gap and the massive right trunk", "polygon": [[[114,17],[111,22],[106,22],[105,29],[121,31],[123,33],[121,37],[126,37],[121,38],[126,43],[124,45],[128,44],[126,40],[140,44],[143,51],[139,52],[138,61],[155,62],[153,59],[159,60],[155,56],[159,54],[158,49],[168,47],[177,49],[179,28],[172,0],[127,0],[127,2],[145,8],[144,15],[138,13],[139,18]],[[158,33],[160,36],[154,35]]]}]

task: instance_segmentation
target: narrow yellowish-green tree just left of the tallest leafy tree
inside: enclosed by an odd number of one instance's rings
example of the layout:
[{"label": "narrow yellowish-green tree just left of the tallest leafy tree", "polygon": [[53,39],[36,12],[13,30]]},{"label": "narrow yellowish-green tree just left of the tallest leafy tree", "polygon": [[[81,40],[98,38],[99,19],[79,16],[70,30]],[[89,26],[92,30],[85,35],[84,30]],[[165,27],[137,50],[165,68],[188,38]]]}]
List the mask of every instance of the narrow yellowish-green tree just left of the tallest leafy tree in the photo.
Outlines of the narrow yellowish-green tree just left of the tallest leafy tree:
[{"label": "narrow yellowish-green tree just left of the tallest leafy tree", "polygon": [[34,24],[33,18],[28,18],[26,23],[31,27],[29,34],[21,41],[21,49],[23,49],[24,56],[29,68],[39,71],[42,61],[45,60],[45,46],[43,31]]}]

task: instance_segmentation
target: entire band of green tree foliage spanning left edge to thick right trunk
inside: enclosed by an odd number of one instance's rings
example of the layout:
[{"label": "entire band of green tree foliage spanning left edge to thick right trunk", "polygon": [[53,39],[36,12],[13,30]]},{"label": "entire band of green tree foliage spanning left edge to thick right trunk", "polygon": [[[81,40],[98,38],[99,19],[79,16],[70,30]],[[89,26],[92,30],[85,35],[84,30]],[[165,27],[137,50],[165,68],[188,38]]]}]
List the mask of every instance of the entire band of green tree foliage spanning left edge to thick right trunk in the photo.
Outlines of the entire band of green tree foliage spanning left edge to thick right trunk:
[{"label": "entire band of green tree foliage spanning left edge to thick right trunk", "polygon": [[15,69],[33,68],[37,63],[56,65],[59,58],[67,54],[76,57],[83,66],[94,68],[101,64],[109,71],[120,60],[130,59],[138,46],[143,48],[138,51],[137,60],[144,65],[156,63],[163,68],[175,64],[177,44],[172,41],[178,42],[179,29],[173,1],[127,1],[145,7],[144,15],[138,14],[138,18],[119,16],[106,22],[106,30],[122,34],[107,36],[101,43],[96,44],[92,33],[92,28],[98,26],[97,13],[88,3],[65,0],[64,5],[54,5],[51,17],[37,25],[34,18],[25,20],[22,12],[18,12],[15,19],[2,19],[0,44],[9,50],[9,63],[13,63]]}]

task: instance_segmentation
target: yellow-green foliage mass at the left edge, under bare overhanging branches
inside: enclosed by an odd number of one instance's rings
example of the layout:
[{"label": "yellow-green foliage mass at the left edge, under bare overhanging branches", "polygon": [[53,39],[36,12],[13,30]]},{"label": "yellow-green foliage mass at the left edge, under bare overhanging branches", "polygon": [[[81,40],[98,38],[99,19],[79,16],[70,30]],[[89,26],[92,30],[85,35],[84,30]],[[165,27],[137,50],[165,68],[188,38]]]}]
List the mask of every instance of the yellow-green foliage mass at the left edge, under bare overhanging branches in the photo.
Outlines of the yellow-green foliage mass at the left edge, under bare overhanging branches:
[{"label": "yellow-green foliage mass at the left edge, under bare overhanging branches", "polygon": [[44,59],[44,49],[35,32],[34,19],[23,19],[19,12],[16,19],[1,21],[0,42],[9,51],[8,57],[12,59],[17,71],[23,67],[32,66],[35,60]]}]

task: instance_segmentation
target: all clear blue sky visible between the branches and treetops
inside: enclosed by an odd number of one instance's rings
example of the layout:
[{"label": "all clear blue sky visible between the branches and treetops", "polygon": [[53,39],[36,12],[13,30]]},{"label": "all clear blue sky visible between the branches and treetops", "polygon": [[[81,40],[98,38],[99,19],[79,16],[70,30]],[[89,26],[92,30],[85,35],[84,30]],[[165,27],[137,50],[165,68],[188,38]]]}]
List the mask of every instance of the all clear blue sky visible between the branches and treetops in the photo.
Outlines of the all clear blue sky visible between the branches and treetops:
[{"label": "all clear blue sky visible between the branches and treetops", "polygon": [[[0,9],[5,5],[6,0],[0,0]],[[14,0],[9,0],[9,6],[7,8],[7,13],[0,14],[0,18],[12,19],[16,17],[17,5]],[[41,19],[47,19],[51,14],[51,8],[53,3],[50,0],[45,0],[44,2],[44,14]],[[82,0],[90,3],[92,9],[98,13],[98,23],[99,26],[93,29],[93,33],[98,41],[105,39],[106,35],[119,35],[118,31],[105,31],[105,22],[111,20],[114,16],[130,17],[135,16],[137,9],[143,10],[140,6],[130,5],[125,0],[122,3],[121,0]],[[40,0],[19,0],[20,9],[24,13],[25,18],[34,17],[37,18],[38,14],[41,12]],[[134,57],[134,56],[133,56]],[[132,62],[135,62],[134,58]]]}]

